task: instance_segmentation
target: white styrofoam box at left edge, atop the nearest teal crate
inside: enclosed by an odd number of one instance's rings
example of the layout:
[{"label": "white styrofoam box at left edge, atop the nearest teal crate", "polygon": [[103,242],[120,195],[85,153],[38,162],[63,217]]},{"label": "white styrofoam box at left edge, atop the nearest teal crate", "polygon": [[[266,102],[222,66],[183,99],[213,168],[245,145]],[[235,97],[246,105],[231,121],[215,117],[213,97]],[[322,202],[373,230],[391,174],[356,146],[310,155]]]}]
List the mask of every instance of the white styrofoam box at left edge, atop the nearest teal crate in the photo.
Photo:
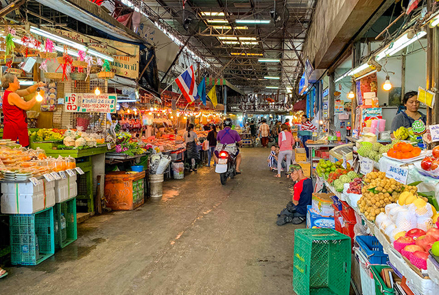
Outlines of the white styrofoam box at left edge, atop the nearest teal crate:
[{"label": "white styrofoam box at left edge, atop the nearest teal crate", "polygon": [[2,183],[1,213],[32,214],[52,207],[55,204],[54,187],[55,183],[47,180],[40,180],[40,185],[36,186],[31,182]]}]

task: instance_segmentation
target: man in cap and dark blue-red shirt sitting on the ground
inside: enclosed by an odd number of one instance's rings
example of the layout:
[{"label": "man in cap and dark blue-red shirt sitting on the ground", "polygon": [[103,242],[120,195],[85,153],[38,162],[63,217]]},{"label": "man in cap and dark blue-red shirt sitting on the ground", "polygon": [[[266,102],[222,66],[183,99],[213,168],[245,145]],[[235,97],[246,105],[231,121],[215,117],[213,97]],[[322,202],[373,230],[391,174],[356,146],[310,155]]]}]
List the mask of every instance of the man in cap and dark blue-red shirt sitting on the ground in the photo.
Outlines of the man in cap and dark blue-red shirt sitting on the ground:
[{"label": "man in cap and dark blue-red shirt sitting on the ground", "polygon": [[293,200],[288,202],[287,207],[277,216],[277,225],[283,225],[287,222],[301,224],[307,217],[307,206],[311,205],[313,194],[313,182],[310,178],[303,175],[300,165],[289,166],[291,171],[290,177],[296,182],[294,185]]}]

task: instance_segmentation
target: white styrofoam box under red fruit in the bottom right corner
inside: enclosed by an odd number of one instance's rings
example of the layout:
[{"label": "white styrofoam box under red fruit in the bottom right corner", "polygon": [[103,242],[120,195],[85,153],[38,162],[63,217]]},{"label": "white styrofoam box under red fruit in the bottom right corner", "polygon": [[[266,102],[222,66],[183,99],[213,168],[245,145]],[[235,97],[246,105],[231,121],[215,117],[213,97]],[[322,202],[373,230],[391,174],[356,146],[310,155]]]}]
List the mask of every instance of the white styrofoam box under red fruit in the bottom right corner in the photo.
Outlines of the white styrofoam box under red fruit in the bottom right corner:
[{"label": "white styrofoam box under red fruit in the bottom right corner", "polygon": [[431,281],[431,279],[421,278],[398,254],[394,248],[389,248],[389,261],[396,270],[405,276],[407,286],[410,287],[410,290],[416,295],[437,295],[439,285]]}]

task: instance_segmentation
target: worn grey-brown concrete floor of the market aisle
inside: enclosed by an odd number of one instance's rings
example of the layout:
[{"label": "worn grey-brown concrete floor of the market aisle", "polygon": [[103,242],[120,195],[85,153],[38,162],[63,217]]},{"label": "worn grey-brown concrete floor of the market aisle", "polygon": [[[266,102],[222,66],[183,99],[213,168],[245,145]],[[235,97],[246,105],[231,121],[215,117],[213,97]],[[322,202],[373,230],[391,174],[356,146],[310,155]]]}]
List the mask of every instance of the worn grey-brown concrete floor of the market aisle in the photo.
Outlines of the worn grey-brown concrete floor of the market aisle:
[{"label": "worn grey-brown concrete floor of the market aisle", "polygon": [[161,200],[95,216],[78,241],[34,267],[10,267],[0,294],[294,294],[291,200],[269,150],[243,151],[225,186],[213,168],[164,182]]}]

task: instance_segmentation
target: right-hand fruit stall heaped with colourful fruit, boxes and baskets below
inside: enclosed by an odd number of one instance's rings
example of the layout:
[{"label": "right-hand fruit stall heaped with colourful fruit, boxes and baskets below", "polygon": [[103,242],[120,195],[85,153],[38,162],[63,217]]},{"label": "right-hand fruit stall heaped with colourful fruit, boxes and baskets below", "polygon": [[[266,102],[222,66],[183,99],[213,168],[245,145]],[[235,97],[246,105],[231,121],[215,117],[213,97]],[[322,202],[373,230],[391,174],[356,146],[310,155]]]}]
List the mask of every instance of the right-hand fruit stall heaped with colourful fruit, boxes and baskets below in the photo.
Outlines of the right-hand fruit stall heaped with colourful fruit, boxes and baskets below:
[{"label": "right-hand fruit stall heaped with colourful fruit, boxes and baskets below", "polygon": [[394,136],[368,134],[351,154],[318,161],[307,226],[351,237],[359,294],[438,294],[439,147],[411,129]]}]

